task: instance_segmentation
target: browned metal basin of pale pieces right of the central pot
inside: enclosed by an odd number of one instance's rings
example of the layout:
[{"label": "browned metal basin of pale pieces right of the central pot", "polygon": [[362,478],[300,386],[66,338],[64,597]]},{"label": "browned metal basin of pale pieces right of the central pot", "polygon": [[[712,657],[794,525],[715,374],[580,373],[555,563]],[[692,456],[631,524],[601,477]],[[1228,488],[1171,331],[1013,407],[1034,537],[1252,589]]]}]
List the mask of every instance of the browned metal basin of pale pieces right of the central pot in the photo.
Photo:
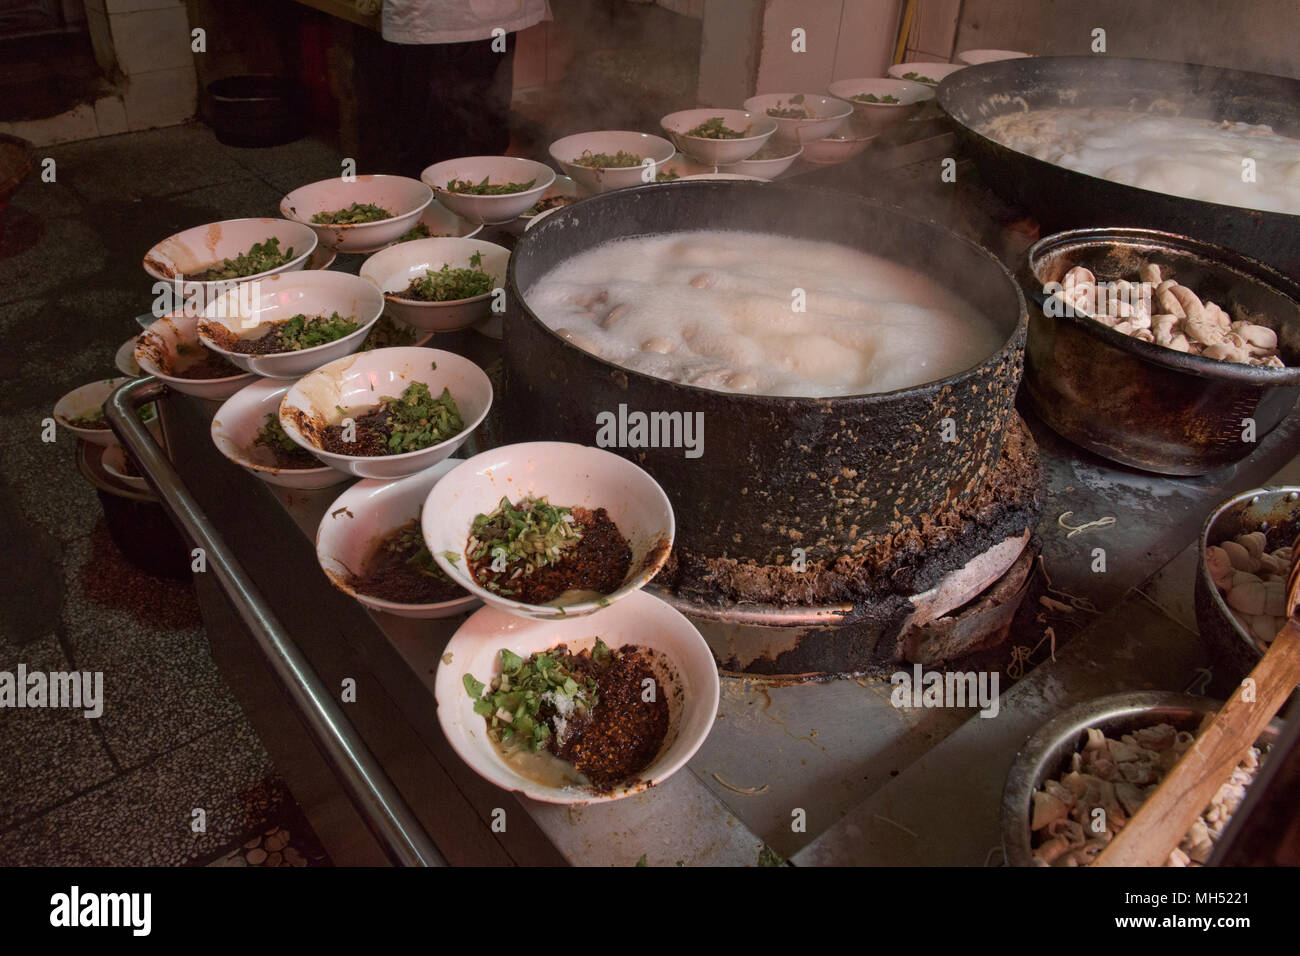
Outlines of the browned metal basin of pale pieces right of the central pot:
[{"label": "browned metal basin of pale pieces right of the central pot", "polygon": [[[1157,261],[1201,299],[1268,316],[1287,368],[1261,368],[1165,349],[1084,315],[1046,315],[1045,282],[1074,265],[1097,280],[1136,278]],[[1262,263],[1152,229],[1074,229],[1030,248],[1026,293],[1036,303],[1024,388],[1053,431],[1121,464],[1204,475],[1256,449],[1300,397],[1300,285]],[[1245,441],[1244,419],[1254,421]]]}]

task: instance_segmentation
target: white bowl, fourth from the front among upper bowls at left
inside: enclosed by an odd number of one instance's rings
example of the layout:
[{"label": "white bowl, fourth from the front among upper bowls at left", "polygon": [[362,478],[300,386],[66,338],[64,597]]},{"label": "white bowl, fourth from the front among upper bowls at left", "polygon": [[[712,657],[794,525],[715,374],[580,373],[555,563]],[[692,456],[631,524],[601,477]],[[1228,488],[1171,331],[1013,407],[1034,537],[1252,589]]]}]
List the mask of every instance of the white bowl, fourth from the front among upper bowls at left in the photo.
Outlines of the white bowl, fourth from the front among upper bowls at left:
[{"label": "white bowl, fourth from the front among upper bowls at left", "polygon": [[[225,328],[238,338],[265,334],[264,323],[281,323],[295,315],[329,316],[338,312],[356,320],[356,329],[333,342],[272,355],[229,351],[212,338],[209,325]],[[199,323],[199,341],[221,352],[235,365],[268,378],[298,378],[313,368],[354,352],[384,312],[384,297],[370,282],[346,272],[296,272],[246,282],[208,303]]]}]

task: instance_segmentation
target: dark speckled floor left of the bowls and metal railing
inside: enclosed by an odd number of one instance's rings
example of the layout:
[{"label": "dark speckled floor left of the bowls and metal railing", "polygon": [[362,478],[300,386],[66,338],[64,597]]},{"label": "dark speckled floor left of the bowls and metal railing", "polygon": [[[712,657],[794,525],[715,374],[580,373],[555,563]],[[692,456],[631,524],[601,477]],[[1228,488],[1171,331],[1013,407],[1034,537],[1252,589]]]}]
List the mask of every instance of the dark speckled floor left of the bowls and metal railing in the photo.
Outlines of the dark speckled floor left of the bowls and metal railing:
[{"label": "dark speckled floor left of the bowls and metal railing", "polygon": [[53,181],[38,168],[0,219],[0,671],[103,671],[104,711],[0,710],[0,865],[202,861],[289,797],[212,663],[192,588],[122,558],[75,440],[43,442],[42,420],[118,375],[113,354],[151,307],[155,242],[278,215],[339,157],[311,140],[225,147],[196,124],[39,155]]}]

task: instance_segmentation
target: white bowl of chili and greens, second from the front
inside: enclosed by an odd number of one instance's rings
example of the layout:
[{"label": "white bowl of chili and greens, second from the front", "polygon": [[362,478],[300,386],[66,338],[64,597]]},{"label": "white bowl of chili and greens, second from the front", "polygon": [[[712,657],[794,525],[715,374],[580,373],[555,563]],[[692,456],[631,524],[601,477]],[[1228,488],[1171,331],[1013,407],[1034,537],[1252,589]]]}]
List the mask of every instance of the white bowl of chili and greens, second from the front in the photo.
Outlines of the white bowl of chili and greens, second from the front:
[{"label": "white bowl of chili and greens, second from the front", "polygon": [[[612,594],[564,606],[530,605],[494,594],[471,578],[465,545],[474,518],[495,510],[502,498],[519,501],[528,494],[546,496],[556,506],[608,512],[632,548],[628,576]],[[493,607],[542,620],[593,614],[645,587],[668,559],[673,535],[668,496],[645,471],[612,451],[559,441],[474,455],[429,493],[421,525],[434,559],[465,591]]]}]

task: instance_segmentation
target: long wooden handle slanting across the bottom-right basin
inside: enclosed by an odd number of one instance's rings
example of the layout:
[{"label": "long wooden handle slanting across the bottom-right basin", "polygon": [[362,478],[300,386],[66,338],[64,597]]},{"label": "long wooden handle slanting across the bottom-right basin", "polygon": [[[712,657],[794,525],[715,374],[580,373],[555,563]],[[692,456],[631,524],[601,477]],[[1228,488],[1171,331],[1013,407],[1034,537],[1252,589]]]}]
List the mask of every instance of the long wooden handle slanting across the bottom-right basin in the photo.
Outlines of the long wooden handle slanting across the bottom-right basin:
[{"label": "long wooden handle slanting across the bottom-right basin", "polygon": [[1164,866],[1296,684],[1300,620],[1292,617],[1214,722],[1092,865]]}]

